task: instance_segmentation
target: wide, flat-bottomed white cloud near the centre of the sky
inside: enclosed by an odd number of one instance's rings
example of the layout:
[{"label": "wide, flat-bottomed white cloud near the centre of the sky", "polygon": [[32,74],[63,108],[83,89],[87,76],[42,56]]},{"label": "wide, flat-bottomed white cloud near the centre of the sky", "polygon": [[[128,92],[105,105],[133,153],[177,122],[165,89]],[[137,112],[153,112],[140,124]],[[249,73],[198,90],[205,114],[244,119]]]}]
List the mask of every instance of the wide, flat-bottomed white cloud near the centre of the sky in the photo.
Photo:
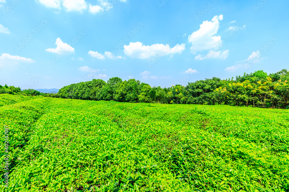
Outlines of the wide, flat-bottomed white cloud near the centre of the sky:
[{"label": "wide, flat-bottomed white cloud near the centre of the sky", "polygon": [[142,45],[140,42],[129,43],[124,45],[124,53],[132,58],[147,59],[152,56],[163,56],[168,54],[182,53],[185,50],[186,44],[177,44],[175,47],[170,48],[170,45],[154,44],[154,45]]}]

